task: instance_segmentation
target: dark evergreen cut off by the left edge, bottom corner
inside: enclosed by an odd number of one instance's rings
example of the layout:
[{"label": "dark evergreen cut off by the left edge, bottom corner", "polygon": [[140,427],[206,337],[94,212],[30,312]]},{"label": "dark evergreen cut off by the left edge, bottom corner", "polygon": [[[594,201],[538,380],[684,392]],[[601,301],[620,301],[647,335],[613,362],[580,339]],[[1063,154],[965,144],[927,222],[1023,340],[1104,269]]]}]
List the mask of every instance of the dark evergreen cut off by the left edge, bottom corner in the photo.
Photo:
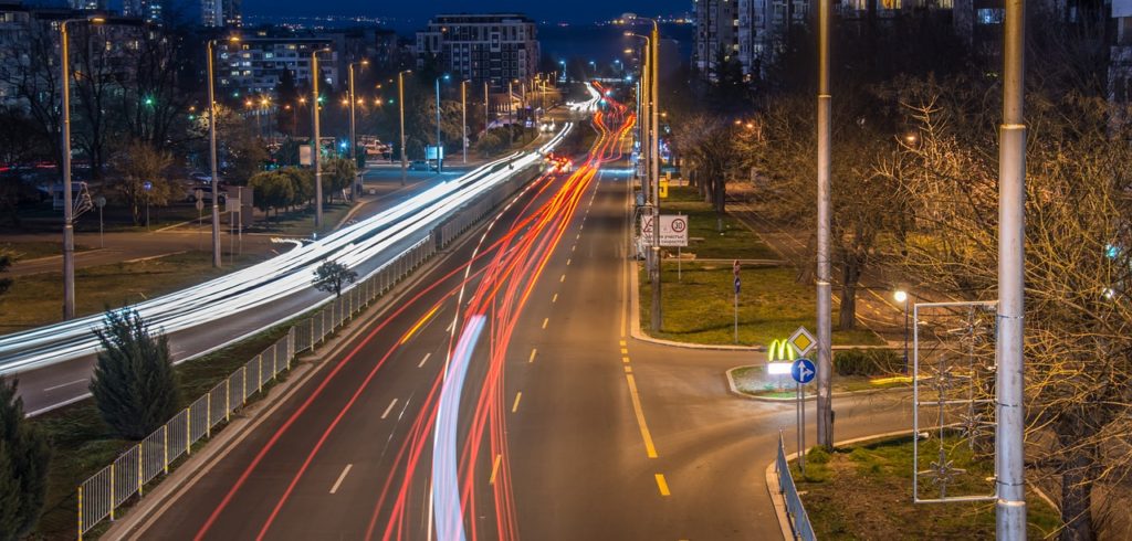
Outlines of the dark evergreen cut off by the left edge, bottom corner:
[{"label": "dark evergreen cut off by the left edge, bottom corner", "polygon": [[24,415],[16,381],[0,378],[0,540],[15,541],[40,518],[51,447]]}]

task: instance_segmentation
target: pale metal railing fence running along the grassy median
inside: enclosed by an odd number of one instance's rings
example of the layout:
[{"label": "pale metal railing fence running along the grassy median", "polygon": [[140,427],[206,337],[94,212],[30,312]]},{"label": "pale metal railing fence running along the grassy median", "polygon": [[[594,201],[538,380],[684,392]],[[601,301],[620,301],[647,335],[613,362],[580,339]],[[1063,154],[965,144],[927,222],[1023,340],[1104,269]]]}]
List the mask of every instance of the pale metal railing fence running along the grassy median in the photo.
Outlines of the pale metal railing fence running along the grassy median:
[{"label": "pale metal railing fence running along the grassy median", "polygon": [[182,455],[192,454],[192,445],[212,437],[213,428],[231,419],[248,399],[261,394],[264,386],[291,369],[291,361],[303,351],[315,351],[334,331],[341,329],[370,303],[436,253],[430,235],[355,282],[340,297],[324,303],[306,321],[288,330],[261,354],[229,375],[205,395],[180,411],[164,426],[138,442],[106,468],[78,487],[78,539],[100,522],[115,518],[115,511],[135,495],[145,496],[146,485],[157,475],[169,474],[169,466]]}]

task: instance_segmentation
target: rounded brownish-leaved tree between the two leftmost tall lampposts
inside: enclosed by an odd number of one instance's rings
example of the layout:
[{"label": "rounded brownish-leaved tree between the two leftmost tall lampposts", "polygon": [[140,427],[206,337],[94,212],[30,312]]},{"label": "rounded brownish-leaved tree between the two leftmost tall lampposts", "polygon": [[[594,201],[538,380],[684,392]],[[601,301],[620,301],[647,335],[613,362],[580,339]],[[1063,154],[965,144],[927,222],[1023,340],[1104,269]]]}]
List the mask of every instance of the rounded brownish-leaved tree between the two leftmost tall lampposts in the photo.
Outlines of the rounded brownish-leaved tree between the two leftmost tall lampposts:
[{"label": "rounded brownish-leaved tree between the two leftmost tall lampposts", "polygon": [[130,206],[134,224],[140,222],[146,204],[164,207],[175,198],[174,186],[165,175],[172,164],[172,154],[140,140],[130,142],[115,156],[114,169],[120,176],[112,185]]}]

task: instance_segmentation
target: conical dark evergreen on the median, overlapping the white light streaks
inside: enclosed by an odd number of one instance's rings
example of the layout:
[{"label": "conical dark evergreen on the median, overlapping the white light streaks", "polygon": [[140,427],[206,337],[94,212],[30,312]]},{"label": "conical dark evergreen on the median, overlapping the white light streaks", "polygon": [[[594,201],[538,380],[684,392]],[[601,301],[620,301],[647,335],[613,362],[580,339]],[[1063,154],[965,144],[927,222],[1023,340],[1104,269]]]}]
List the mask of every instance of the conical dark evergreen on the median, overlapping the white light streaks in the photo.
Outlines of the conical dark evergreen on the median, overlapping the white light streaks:
[{"label": "conical dark evergreen on the median, overlapping the white light streaks", "polygon": [[134,309],[108,311],[95,335],[97,354],[91,394],[102,418],[127,439],[142,439],[179,408],[169,339],[154,333]]}]

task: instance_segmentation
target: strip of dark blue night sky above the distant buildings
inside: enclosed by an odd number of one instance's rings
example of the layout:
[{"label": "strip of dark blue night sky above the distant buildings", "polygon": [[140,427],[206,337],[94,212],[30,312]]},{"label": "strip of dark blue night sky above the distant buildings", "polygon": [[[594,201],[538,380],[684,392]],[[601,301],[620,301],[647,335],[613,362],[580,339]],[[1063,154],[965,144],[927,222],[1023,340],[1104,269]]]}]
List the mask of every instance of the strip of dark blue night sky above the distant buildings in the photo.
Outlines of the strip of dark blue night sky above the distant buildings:
[{"label": "strip of dark blue night sky above the distant buildings", "polygon": [[[317,8],[311,9],[311,6]],[[366,15],[424,20],[441,11],[518,11],[538,20],[591,21],[616,17],[625,11],[641,15],[669,15],[691,11],[692,0],[243,0],[248,15]]]}]

